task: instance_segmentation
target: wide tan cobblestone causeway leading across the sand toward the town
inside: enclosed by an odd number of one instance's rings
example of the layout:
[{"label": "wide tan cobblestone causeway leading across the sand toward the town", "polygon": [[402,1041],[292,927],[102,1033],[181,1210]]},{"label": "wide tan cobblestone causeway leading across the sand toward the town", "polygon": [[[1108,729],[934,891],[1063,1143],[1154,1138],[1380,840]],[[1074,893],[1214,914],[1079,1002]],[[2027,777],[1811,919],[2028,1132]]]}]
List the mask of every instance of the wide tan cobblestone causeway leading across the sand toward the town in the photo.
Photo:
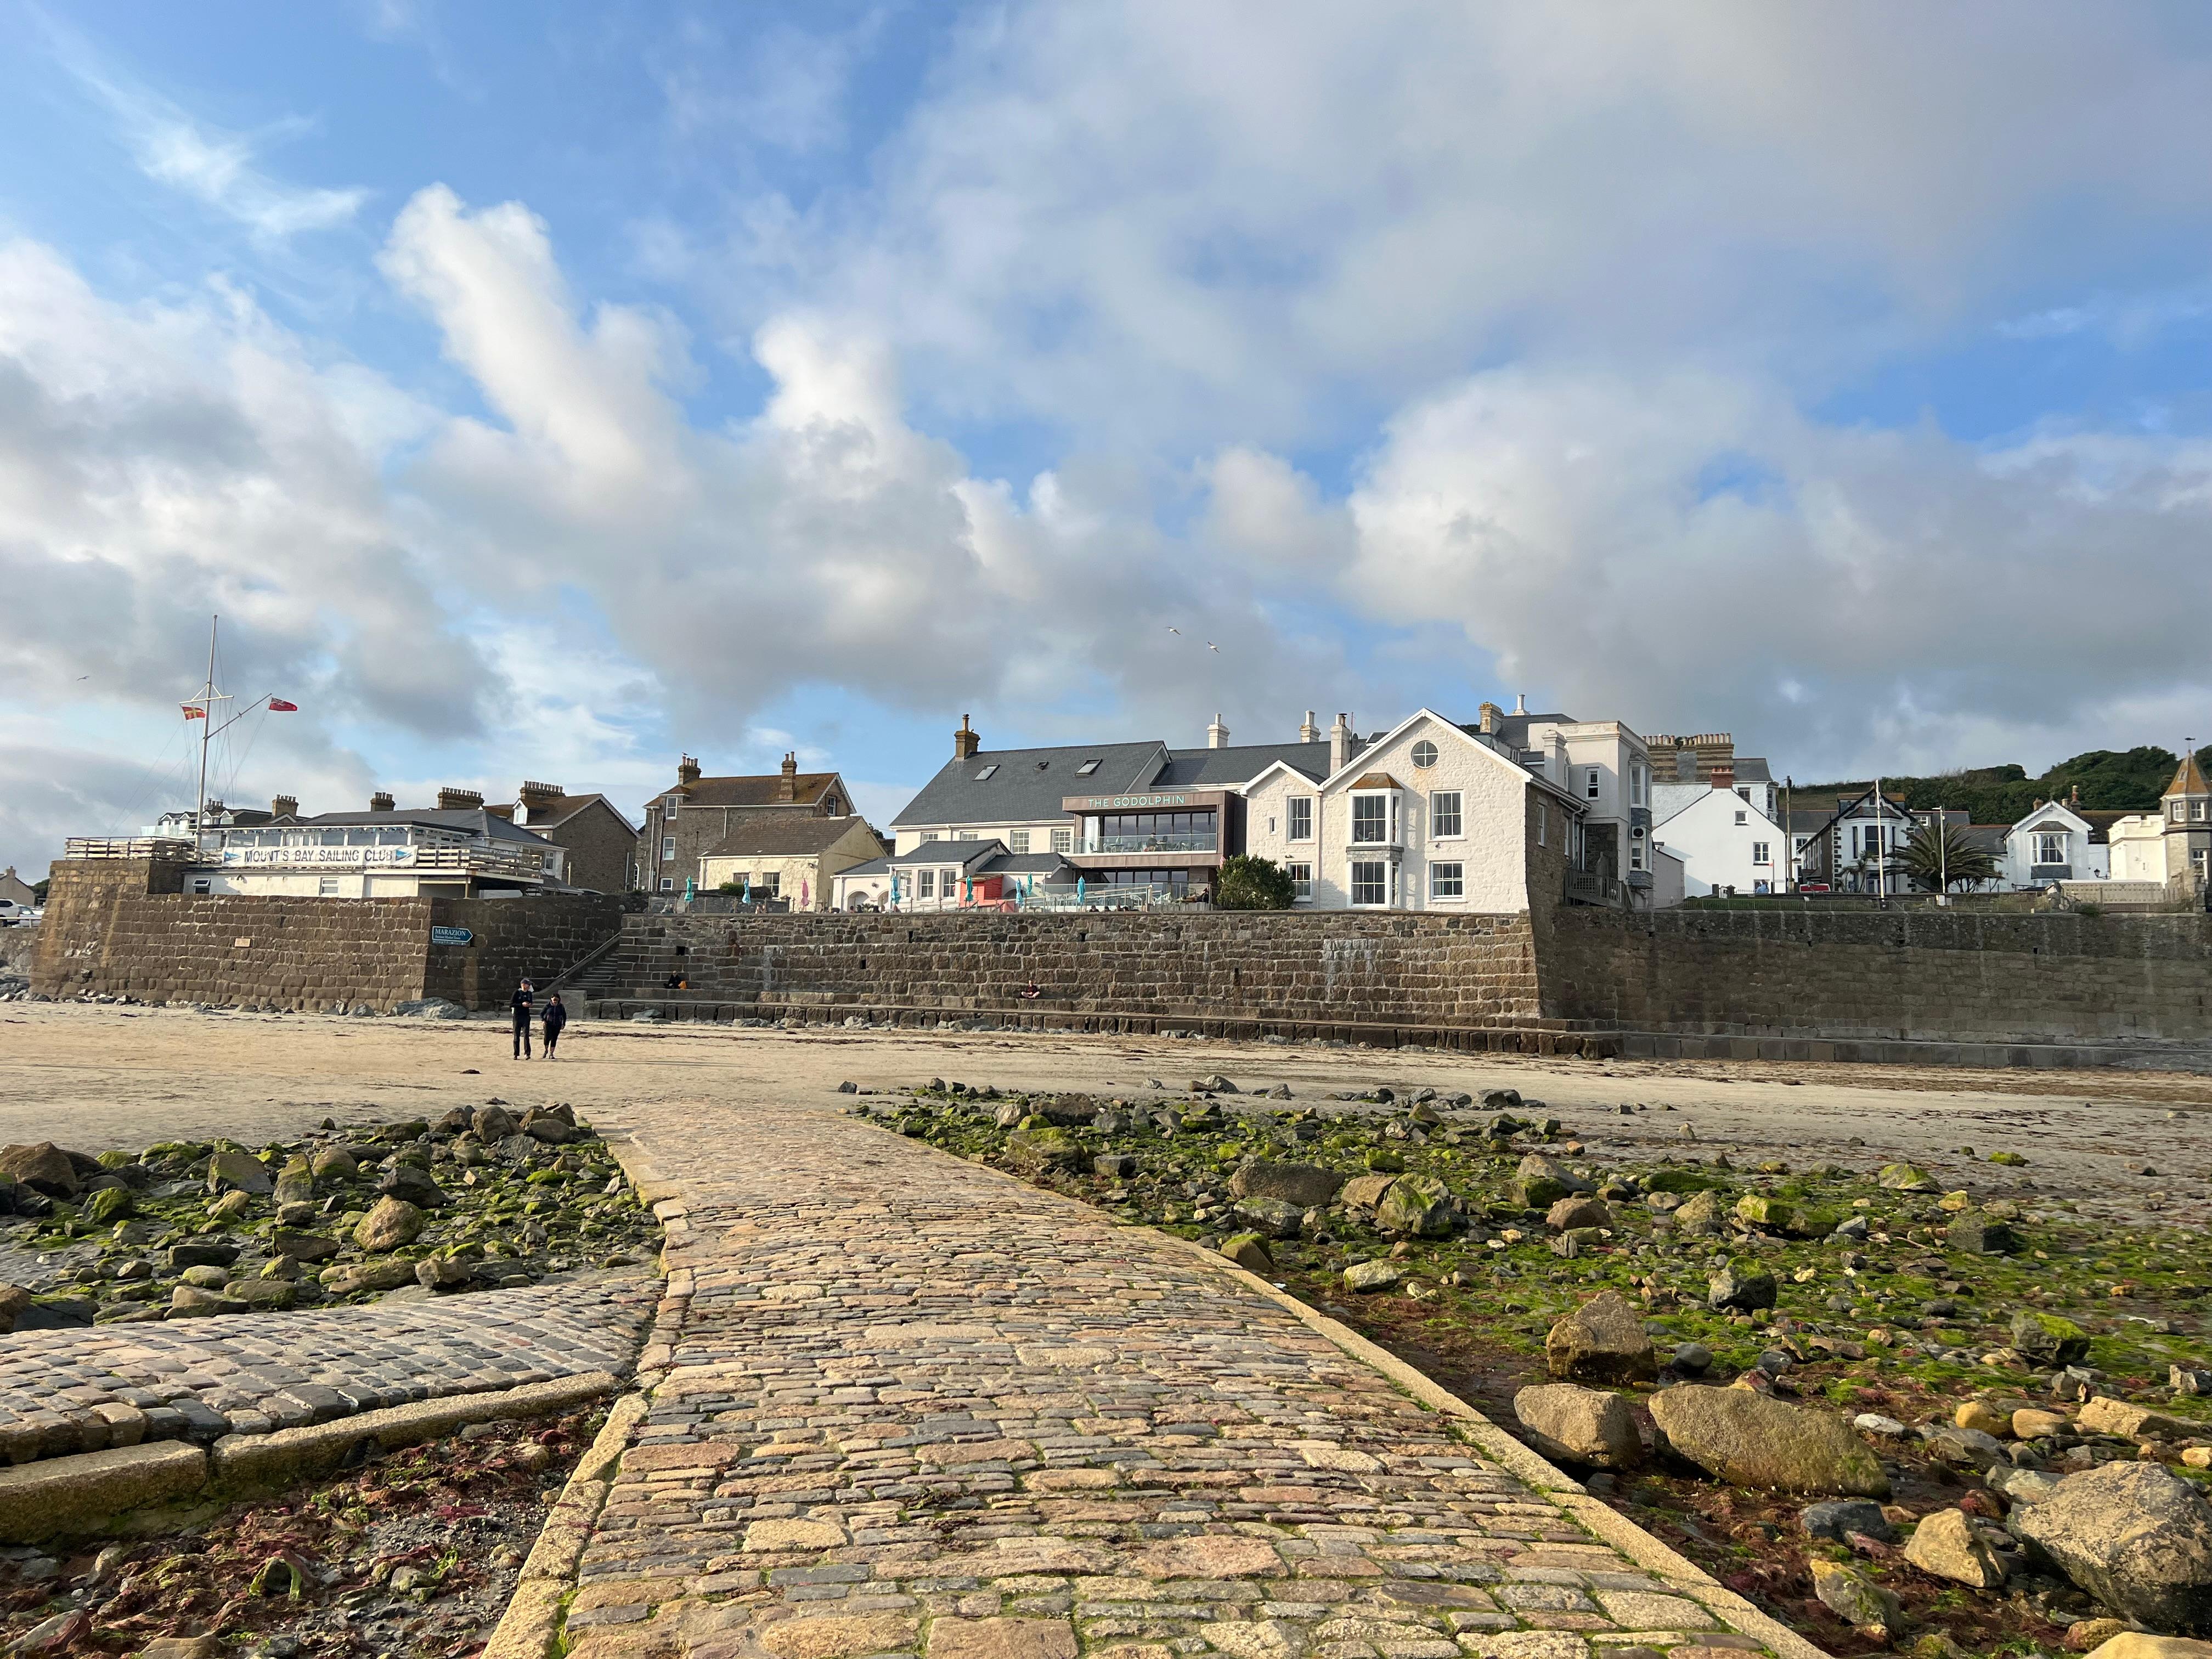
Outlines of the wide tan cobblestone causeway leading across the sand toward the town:
[{"label": "wide tan cobblestone causeway leading across the sand toward the town", "polygon": [[573,1659],[1814,1652],[1172,1239],[827,1113],[641,1130],[650,1391],[518,1597],[573,1575]]}]

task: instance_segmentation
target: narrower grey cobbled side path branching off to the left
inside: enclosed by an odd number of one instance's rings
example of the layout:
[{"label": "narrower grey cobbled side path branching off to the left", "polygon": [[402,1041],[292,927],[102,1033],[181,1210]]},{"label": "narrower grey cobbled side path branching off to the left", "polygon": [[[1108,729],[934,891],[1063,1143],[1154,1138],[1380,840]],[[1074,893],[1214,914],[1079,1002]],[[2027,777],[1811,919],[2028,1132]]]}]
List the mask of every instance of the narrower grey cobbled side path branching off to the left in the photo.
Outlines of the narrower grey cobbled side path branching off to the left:
[{"label": "narrower grey cobbled side path branching off to the left", "polygon": [[628,1376],[657,1279],[484,1290],[438,1301],[93,1325],[0,1338],[11,1462],[144,1440],[215,1440],[356,1411]]}]

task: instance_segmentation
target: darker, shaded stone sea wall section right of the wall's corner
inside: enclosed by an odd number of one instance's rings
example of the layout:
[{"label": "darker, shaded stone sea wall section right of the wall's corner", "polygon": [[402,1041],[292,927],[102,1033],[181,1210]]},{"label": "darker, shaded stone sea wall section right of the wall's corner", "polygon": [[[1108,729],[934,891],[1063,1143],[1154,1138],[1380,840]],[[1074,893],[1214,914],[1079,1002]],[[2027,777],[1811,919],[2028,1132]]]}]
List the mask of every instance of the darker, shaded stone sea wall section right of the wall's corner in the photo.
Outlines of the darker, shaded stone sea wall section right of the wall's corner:
[{"label": "darker, shaded stone sea wall section right of the wall's corner", "polygon": [[1559,909],[1544,1013],[1597,1031],[1978,1042],[2212,1035],[2212,918]]}]

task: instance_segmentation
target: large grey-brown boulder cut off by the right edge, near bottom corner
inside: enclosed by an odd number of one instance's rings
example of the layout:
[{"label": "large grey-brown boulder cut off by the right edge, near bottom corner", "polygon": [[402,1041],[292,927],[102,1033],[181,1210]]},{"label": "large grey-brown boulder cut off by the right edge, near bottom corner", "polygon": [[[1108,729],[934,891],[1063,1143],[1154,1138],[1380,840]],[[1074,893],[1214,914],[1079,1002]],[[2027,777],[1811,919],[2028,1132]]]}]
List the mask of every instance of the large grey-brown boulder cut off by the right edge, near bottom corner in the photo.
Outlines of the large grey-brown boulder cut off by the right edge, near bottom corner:
[{"label": "large grey-brown boulder cut off by the right edge, near bottom corner", "polygon": [[2212,1635],[2212,1502],[2154,1462],[2066,1475],[2011,1531],[2084,1590],[2152,1630]]}]

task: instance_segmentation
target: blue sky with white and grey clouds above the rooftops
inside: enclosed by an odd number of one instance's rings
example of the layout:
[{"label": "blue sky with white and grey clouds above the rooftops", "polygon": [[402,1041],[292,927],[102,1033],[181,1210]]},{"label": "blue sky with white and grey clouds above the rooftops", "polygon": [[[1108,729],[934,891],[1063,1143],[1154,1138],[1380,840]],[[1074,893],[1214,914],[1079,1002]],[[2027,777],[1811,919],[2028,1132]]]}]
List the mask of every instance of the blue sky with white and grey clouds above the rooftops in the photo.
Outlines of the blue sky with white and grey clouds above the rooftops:
[{"label": "blue sky with white and grey clouds above the rooftops", "polygon": [[[2212,737],[2194,4],[0,0],[0,863],[1429,706]],[[299,703],[265,712],[265,697]]]}]

